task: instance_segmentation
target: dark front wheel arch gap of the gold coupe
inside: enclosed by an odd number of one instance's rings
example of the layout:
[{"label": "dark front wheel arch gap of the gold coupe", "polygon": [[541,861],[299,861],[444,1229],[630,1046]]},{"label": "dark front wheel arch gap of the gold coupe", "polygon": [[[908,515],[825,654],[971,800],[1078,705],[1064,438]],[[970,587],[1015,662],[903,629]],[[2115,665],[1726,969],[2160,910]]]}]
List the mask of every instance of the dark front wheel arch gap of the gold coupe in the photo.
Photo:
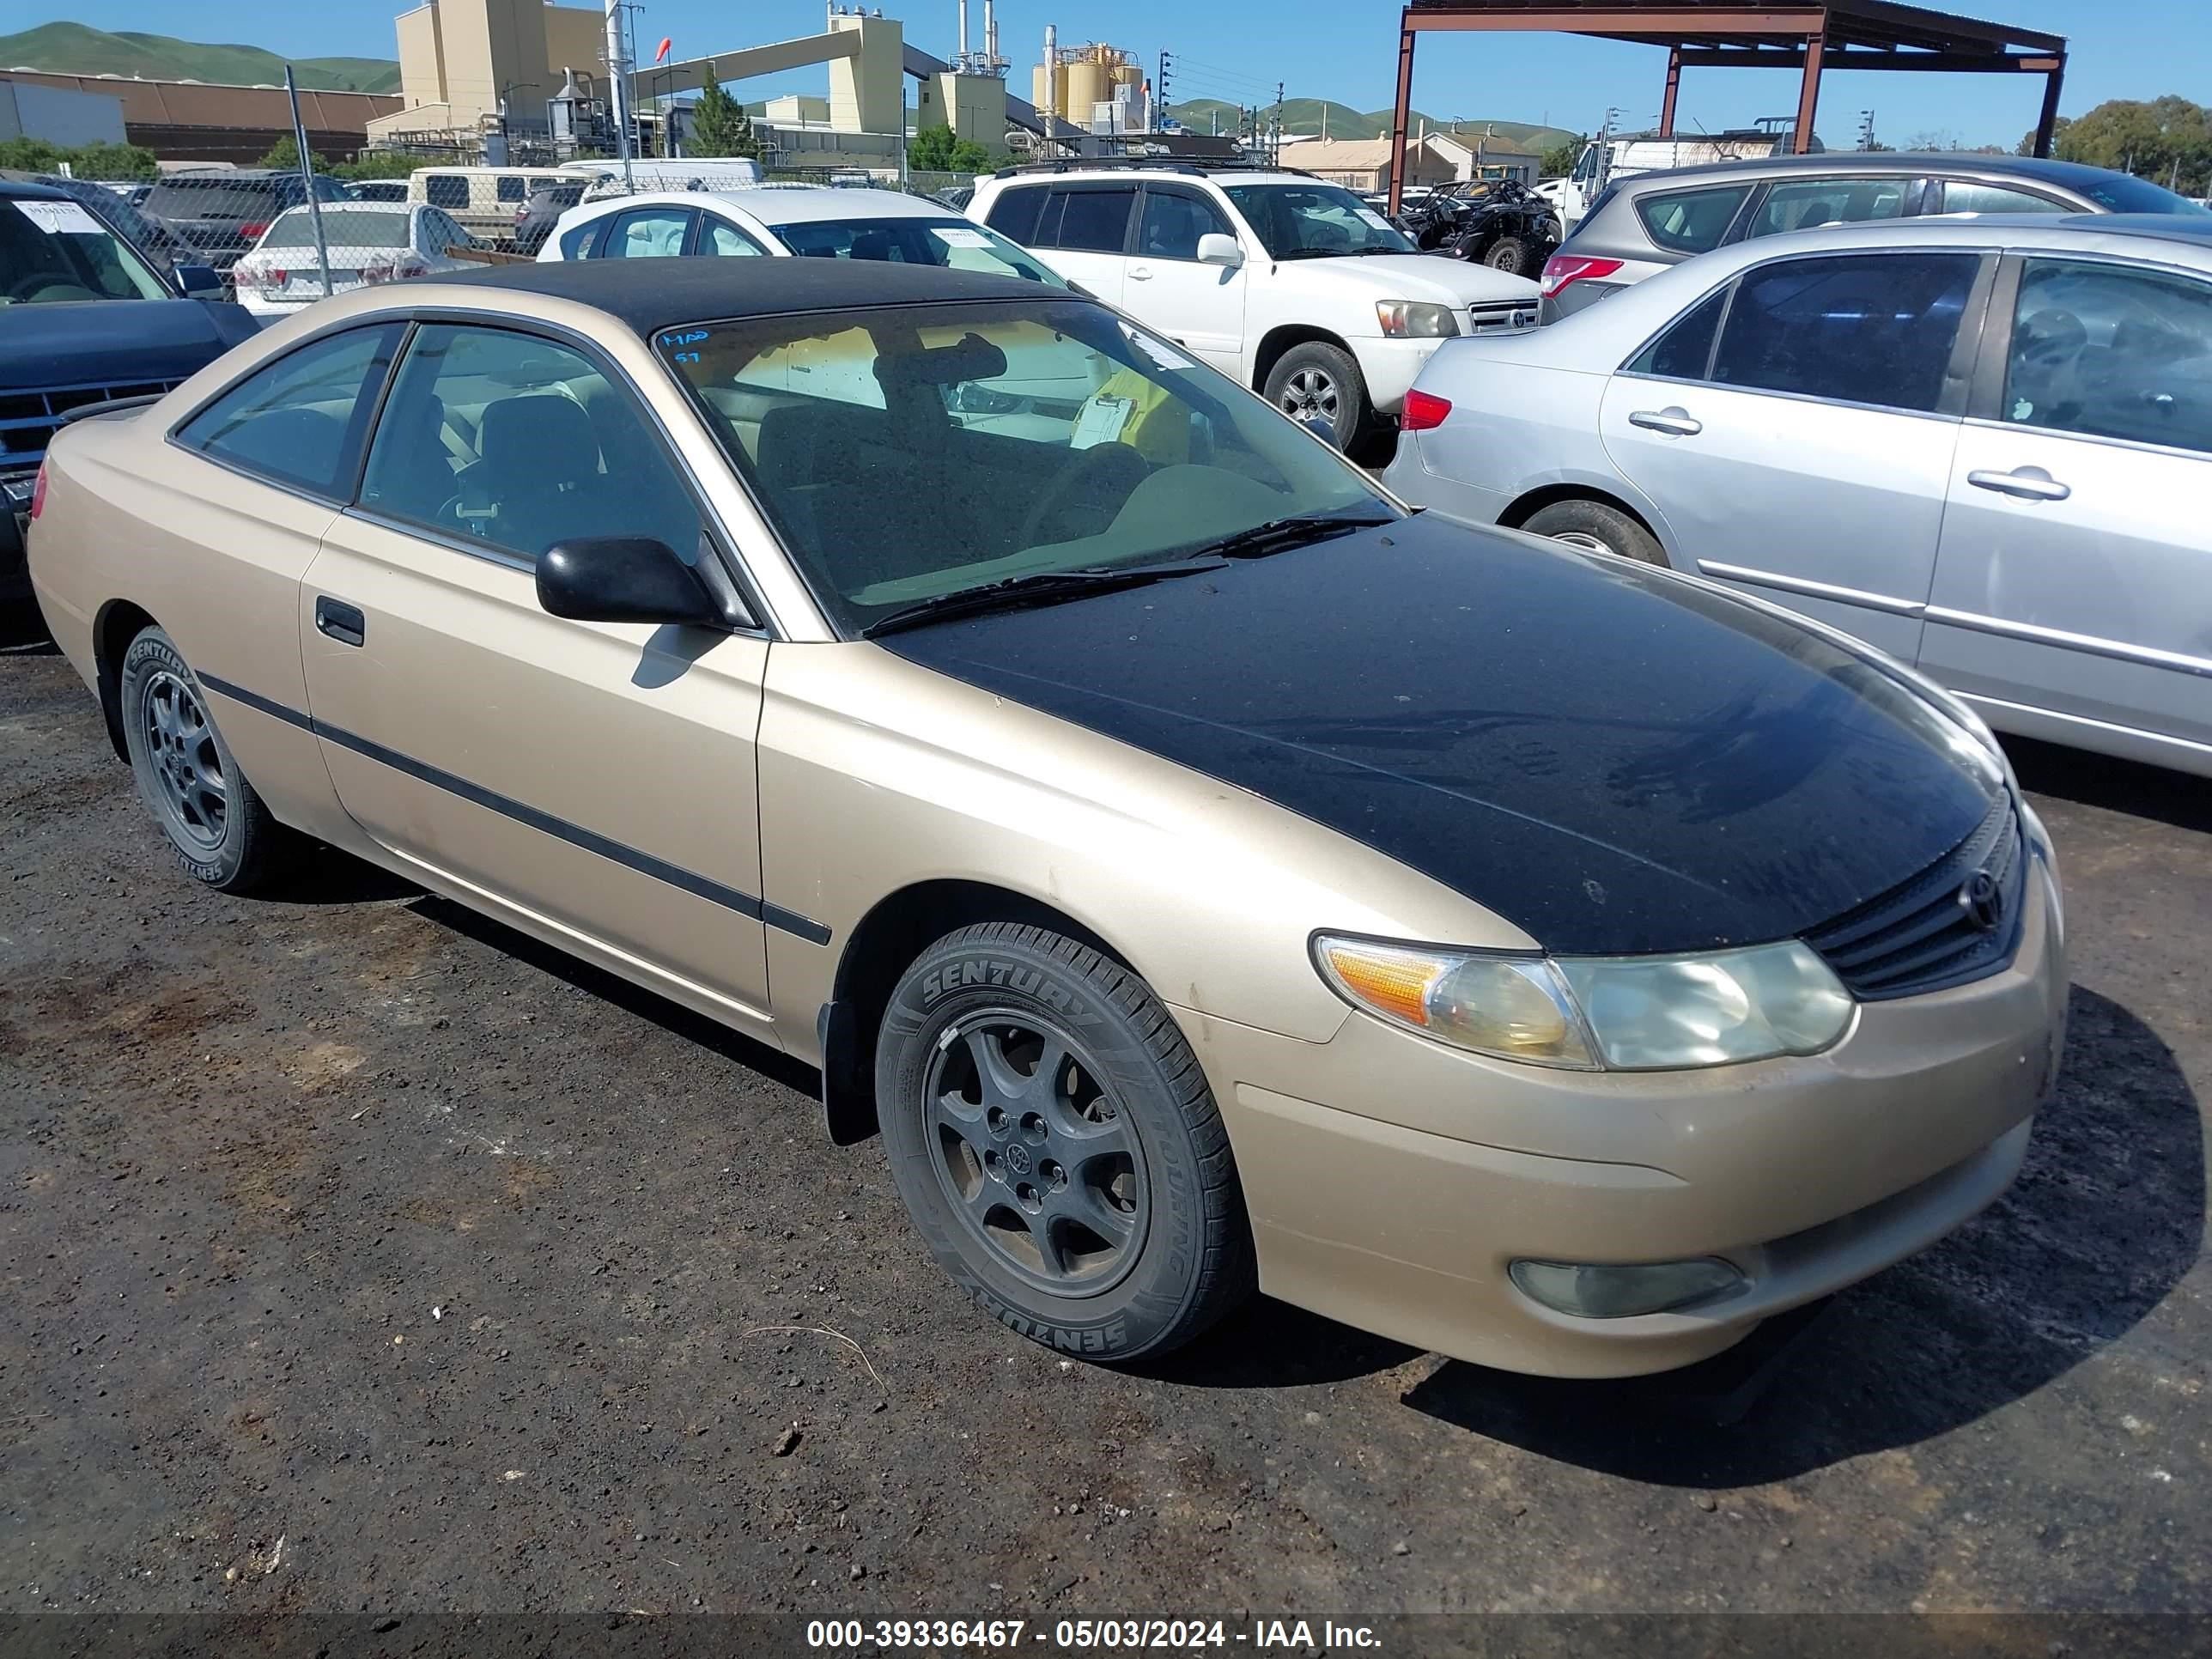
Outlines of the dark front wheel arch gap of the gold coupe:
[{"label": "dark front wheel arch gap of the gold coupe", "polygon": [[[1088,945],[1135,973],[1130,960],[1064,909],[982,880],[918,880],[885,894],[847,933],[830,1002],[816,1015],[823,1119],[838,1146],[876,1133],[876,1029],[898,978],[947,933],[975,922],[1026,922]],[[1139,975],[1141,978],[1141,975]]]}]

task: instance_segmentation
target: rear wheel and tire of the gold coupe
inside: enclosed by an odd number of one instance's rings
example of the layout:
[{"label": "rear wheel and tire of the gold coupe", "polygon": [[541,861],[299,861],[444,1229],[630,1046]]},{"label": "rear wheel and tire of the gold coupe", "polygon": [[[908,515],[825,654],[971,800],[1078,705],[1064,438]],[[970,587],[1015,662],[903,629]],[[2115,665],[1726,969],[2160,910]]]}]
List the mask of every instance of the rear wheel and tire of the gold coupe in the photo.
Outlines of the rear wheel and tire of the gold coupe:
[{"label": "rear wheel and tire of the gold coupe", "polygon": [[208,695],[177,641],[146,628],[122,661],[131,776],[192,880],[223,894],[265,887],[305,845],[276,823],[215,728]]}]

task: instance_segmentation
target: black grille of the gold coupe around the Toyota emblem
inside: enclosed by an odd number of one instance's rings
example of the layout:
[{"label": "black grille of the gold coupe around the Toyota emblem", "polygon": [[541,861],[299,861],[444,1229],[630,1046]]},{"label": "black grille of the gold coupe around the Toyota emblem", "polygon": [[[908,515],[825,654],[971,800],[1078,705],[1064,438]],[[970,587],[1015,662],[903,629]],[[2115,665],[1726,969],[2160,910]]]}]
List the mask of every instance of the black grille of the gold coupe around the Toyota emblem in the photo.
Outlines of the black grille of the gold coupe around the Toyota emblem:
[{"label": "black grille of the gold coupe around the Toyota emblem", "polygon": [[[1960,894],[1989,872],[2000,907],[1980,927]],[[1885,1002],[1982,980],[2013,960],[2026,909],[2026,856],[2011,794],[1958,847],[1911,880],[1805,936],[1863,1002]]]}]

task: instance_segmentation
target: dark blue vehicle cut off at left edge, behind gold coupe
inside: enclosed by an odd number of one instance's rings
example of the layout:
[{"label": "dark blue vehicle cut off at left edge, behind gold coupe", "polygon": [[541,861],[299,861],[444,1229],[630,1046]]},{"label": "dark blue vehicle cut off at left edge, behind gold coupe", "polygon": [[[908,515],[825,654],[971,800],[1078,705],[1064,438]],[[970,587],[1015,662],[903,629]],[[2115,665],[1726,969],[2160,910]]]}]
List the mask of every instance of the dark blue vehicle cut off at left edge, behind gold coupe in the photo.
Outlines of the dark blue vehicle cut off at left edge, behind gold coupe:
[{"label": "dark blue vehicle cut off at left edge, behind gold coupe", "polygon": [[73,409],[142,398],[254,332],[212,305],[206,265],[155,270],[60,190],[0,179],[0,602],[29,597],[24,526],[46,442]]}]

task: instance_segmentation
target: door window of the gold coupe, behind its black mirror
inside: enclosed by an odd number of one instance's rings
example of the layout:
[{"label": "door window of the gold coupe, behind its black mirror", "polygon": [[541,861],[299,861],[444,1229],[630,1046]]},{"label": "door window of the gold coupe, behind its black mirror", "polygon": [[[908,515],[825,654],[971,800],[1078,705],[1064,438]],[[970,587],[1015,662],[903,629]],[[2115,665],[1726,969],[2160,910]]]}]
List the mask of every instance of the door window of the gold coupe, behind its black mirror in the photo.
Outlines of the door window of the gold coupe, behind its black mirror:
[{"label": "door window of the gold coupe, behind its black mirror", "polygon": [[361,504],[522,560],[573,535],[699,551],[699,509],[628,389],[582,352],[495,327],[416,330]]}]

